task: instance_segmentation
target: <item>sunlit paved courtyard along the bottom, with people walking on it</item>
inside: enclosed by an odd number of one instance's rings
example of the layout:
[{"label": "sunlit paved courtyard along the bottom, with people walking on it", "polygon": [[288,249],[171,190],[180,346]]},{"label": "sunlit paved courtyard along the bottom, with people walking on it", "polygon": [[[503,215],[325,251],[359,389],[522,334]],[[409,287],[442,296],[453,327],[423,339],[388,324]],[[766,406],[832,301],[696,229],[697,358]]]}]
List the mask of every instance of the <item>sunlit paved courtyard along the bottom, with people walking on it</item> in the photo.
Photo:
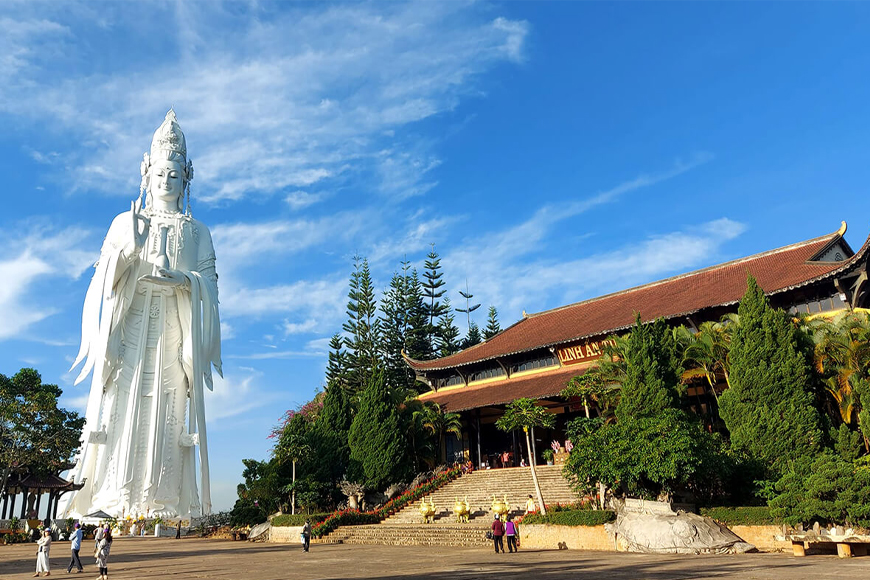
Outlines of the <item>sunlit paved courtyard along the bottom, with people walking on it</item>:
[{"label": "sunlit paved courtyard along the bottom, with people walking on it", "polygon": [[[91,545],[85,542],[86,548]],[[32,544],[0,546],[0,579],[31,577],[36,566],[35,553]],[[82,560],[85,573],[74,577],[92,580],[97,575],[94,560],[90,555]],[[66,577],[68,562],[69,544],[55,542],[51,549],[51,576]],[[198,538],[121,538],[112,546],[109,577],[866,580],[870,577],[870,557],[840,560],[832,555],[794,558],[788,554],[650,556],[576,550],[496,555],[484,549],[350,545],[313,545],[306,554],[298,545]]]}]

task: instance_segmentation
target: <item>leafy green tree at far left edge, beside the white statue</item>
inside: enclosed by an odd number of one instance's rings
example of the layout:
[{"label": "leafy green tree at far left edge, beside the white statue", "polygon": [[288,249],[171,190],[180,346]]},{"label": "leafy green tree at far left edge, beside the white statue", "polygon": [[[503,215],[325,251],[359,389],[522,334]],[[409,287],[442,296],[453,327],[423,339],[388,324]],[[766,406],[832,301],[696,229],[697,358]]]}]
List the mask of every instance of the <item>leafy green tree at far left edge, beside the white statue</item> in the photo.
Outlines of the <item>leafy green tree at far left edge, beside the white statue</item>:
[{"label": "leafy green tree at far left edge, beside the white statue", "polygon": [[57,406],[62,393],[31,368],[0,374],[0,495],[13,471],[55,473],[72,459],[85,419]]}]

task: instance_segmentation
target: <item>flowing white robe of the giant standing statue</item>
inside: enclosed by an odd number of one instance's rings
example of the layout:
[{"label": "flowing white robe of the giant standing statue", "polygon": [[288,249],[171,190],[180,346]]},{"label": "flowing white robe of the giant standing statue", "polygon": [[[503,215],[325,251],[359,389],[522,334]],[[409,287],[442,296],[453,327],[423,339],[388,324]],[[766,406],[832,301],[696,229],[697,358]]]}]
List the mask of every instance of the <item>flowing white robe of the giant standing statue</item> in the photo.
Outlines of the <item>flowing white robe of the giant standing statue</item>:
[{"label": "flowing white robe of the giant standing statue", "polygon": [[[156,273],[164,228],[169,267],[185,277],[179,287],[139,280]],[[65,512],[209,513],[203,386],[212,388],[212,365],[221,373],[211,236],[191,217],[156,213],[138,254],[132,240],[133,218],[126,212],[109,228],[85,297],[73,364],[85,361],[76,383],[93,371],[73,470],[84,487]]]}]

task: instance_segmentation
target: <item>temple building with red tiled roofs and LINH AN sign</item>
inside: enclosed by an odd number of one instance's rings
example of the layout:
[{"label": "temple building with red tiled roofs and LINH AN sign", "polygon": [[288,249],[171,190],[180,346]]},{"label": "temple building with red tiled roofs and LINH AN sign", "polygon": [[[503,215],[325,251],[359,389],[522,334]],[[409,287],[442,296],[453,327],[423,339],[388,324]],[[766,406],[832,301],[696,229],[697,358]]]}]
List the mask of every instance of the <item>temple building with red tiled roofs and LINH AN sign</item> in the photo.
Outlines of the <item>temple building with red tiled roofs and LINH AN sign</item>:
[{"label": "temple building with red tiled roofs and LINH AN sign", "polygon": [[[664,318],[697,329],[736,312],[751,274],[771,304],[792,312],[833,315],[865,308],[870,238],[853,251],[835,232],[658,282],[584,300],[523,318],[489,340],[456,354],[418,361],[406,357],[429,391],[420,399],[459,413],[461,438],[447,441],[448,461],[500,466],[522,456],[518,438],[496,429],[505,405],[520,397],[537,399],[556,415],[554,430],[536,431],[538,460],[565,425],[583,410],[559,396],[568,381],[596,364],[602,344],[627,331],[639,313],[644,321]],[[698,389],[701,390],[701,389]],[[690,388],[687,396],[700,397]],[[699,399],[700,400],[700,399]],[[701,402],[700,405],[705,403]]]}]

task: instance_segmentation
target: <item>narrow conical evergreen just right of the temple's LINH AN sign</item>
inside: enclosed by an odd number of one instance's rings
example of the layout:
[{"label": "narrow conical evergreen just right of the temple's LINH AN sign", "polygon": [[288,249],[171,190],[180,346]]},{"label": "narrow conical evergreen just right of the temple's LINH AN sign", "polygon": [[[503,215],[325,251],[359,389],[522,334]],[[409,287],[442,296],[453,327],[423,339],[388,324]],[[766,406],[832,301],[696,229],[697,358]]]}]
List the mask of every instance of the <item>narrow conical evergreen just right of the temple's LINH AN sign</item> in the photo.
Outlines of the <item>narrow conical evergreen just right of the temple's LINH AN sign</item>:
[{"label": "narrow conical evergreen just right of the temple's LINH AN sign", "polygon": [[627,377],[616,417],[649,417],[679,406],[680,364],[674,335],[663,319],[643,324],[637,316],[626,353]]}]

